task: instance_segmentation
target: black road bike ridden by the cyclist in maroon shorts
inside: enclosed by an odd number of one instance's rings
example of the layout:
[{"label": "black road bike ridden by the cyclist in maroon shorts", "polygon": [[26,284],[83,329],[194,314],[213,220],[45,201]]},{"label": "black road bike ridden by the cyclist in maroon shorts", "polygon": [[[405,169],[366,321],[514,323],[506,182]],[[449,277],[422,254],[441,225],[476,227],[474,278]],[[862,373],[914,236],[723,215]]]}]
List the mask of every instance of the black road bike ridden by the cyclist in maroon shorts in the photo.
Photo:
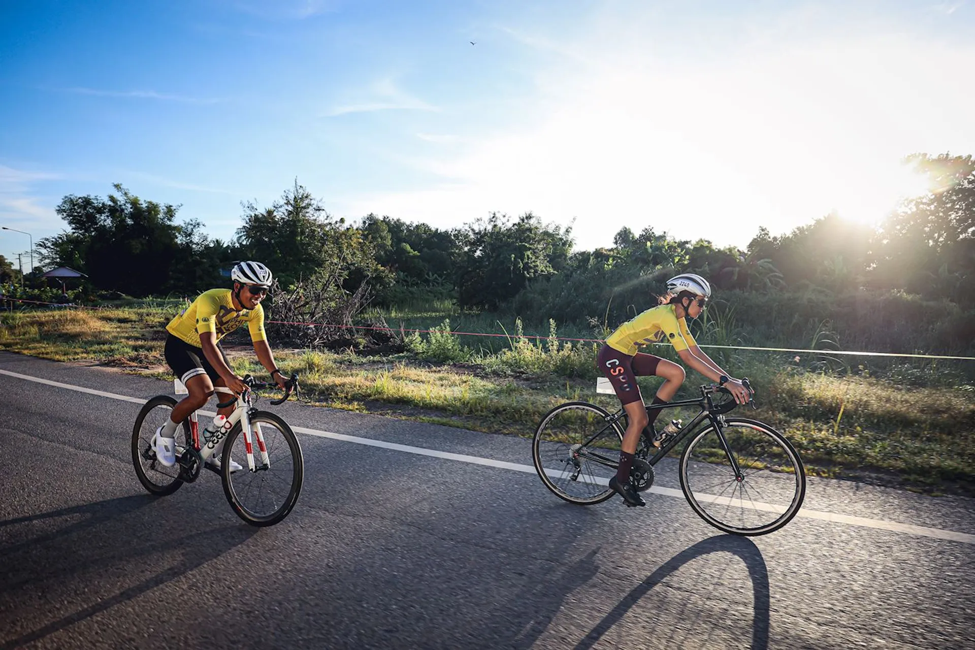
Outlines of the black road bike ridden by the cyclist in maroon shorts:
[{"label": "black road bike ridden by the cyclist in maroon shorts", "polygon": [[[747,380],[744,380],[746,383]],[[646,408],[698,406],[700,412],[676,433],[653,445],[644,430],[630,479],[639,491],[653,484],[653,468],[683,443],[681,488],[701,518],[727,533],[764,535],[787,524],[805,497],[805,470],[793,445],[767,424],[725,414],[737,406],[717,385],[700,387],[697,400]],[[752,404],[754,406],[754,402]],[[535,471],[545,486],[569,503],[602,503],[615,492],[608,480],[619,465],[626,411],[569,401],[542,418],[531,444]],[[666,488],[664,488],[666,489]]]}]

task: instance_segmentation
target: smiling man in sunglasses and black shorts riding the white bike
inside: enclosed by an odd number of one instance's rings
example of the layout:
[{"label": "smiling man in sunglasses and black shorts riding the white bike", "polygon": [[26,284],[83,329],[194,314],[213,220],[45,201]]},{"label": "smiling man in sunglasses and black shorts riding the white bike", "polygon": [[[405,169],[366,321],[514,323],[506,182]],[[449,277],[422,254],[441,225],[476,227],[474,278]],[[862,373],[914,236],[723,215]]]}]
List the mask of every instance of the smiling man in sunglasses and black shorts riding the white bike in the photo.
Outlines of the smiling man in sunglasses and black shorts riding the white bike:
[{"label": "smiling man in sunglasses and black shorts riding the white bike", "polygon": [[[193,303],[166,325],[166,363],[173,368],[189,395],[173,407],[170,419],[156,430],[153,445],[156,458],[167,467],[176,464],[176,427],[190,413],[202,408],[214,393],[239,394],[246,388],[244,380],[230,369],[230,363],[219,340],[237,327],[248,325],[257,359],[267,368],[278,386],[285,389],[285,377],[274,363],[274,355],[264,333],[264,308],[260,301],[267,295],[273,276],[260,262],[241,262],[230,271],[234,286],[215,288],[201,293]],[[234,406],[218,410],[229,415]],[[208,463],[219,467],[220,444]],[[233,463],[233,461],[231,461]],[[241,469],[233,463],[231,472]]]}]

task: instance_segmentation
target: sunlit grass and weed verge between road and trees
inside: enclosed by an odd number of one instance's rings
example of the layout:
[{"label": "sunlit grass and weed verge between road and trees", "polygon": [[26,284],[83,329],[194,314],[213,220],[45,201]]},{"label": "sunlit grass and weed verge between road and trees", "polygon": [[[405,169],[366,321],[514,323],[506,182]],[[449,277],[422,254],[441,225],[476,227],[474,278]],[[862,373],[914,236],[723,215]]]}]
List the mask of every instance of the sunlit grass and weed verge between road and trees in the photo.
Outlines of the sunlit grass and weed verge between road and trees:
[{"label": "sunlit grass and weed verge between road and trees", "polygon": [[[150,306],[5,314],[0,349],[168,378],[162,347],[171,311]],[[301,374],[304,394],[315,403],[492,433],[529,437],[549,409],[567,400],[618,407],[612,396],[595,394],[592,344],[560,343],[554,325],[548,339],[532,342],[519,334],[513,332],[496,353],[458,346],[448,328],[414,339],[411,352],[392,357],[309,351],[276,356],[284,371]],[[237,372],[262,372],[246,336],[227,347]],[[915,376],[908,386],[810,370],[767,355],[719,361],[741,368],[760,391],[759,410],[734,414],[783,432],[809,474],[975,494],[973,393],[963,384],[945,385],[943,373],[932,377],[936,385],[917,385]],[[696,397],[700,380],[691,374],[678,399]],[[643,378],[640,384],[646,397],[657,381]],[[685,410],[673,417],[693,415]]]}]

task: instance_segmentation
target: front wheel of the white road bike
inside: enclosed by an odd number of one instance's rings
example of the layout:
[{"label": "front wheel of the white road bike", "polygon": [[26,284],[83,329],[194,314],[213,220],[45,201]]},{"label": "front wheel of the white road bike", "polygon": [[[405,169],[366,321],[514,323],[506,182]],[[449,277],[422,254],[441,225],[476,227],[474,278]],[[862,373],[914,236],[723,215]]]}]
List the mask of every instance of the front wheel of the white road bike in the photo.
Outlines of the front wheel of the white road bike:
[{"label": "front wheel of the white road bike", "polygon": [[[254,526],[270,526],[292,512],[304,481],[304,460],[292,428],[274,413],[255,412],[251,431],[254,472],[248,466],[241,424],[238,422],[227,435],[220,459],[223,493],[237,516]],[[258,440],[263,440],[267,450],[267,465]],[[231,461],[240,463],[243,469],[231,472]]]}]

